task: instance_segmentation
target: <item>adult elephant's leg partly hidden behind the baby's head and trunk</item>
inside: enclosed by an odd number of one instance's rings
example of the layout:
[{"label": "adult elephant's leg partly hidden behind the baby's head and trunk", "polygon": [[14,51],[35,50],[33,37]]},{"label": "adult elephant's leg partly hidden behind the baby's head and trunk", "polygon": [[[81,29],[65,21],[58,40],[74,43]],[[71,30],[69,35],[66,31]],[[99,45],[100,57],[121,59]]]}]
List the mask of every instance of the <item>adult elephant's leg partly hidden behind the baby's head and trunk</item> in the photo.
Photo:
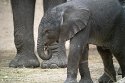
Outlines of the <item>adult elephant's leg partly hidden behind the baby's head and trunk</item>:
[{"label": "adult elephant's leg partly hidden behind the baby's head and trunk", "polygon": [[[43,0],[44,12],[64,2],[66,2],[66,0]],[[41,64],[41,68],[65,68],[67,65],[65,43],[54,43],[52,47],[56,48],[54,50],[51,49],[52,58],[44,60]]]}]

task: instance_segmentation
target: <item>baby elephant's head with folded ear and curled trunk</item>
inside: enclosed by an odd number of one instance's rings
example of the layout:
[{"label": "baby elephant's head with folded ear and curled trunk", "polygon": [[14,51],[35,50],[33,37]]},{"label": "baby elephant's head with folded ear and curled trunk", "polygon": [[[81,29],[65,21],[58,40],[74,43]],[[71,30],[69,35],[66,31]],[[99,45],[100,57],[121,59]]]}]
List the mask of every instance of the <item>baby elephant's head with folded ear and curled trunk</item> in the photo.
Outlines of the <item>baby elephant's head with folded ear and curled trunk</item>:
[{"label": "baby elephant's head with folded ear and curled trunk", "polygon": [[[42,59],[50,59],[52,54],[45,55],[45,47],[54,42],[65,42],[84,29],[89,20],[86,9],[76,9],[61,5],[44,14],[38,31],[38,55]],[[85,17],[81,16],[84,15]],[[49,51],[49,49],[47,49]]]}]

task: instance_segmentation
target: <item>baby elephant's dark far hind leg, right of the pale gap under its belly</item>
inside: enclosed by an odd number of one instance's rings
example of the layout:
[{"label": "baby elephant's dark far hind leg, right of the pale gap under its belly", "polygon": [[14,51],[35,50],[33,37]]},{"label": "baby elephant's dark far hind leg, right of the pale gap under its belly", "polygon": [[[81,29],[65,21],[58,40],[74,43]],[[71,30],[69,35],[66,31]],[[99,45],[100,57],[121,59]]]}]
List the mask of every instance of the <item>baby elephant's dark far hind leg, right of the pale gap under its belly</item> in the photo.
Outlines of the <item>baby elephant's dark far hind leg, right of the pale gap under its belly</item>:
[{"label": "baby elephant's dark far hind leg, right of the pale gap under its belly", "polygon": [[113,83],[116,81],[116,72],[113,65],[112,53],[109,49],[97,46],[97,50],[103,60],[104,74],[99,78],[99,83]]}]

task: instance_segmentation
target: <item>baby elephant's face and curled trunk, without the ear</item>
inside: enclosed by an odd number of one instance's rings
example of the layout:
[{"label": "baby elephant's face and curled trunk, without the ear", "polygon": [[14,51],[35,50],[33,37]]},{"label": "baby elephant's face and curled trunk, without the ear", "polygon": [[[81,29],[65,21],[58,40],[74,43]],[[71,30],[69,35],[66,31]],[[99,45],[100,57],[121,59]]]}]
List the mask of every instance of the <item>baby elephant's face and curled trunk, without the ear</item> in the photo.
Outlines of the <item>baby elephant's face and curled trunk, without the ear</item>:
[{"label": "baby elephant's face and curled trunk, without the ear", "polygon": [[[52,57],[52,50],[48,48],[59,37],[59,21],[55,18],[53,13],[46,12],[40,22],[38,29],[37,52],[41,59],[48,60]],[[45,50],[48,55],[45,54]]]}]

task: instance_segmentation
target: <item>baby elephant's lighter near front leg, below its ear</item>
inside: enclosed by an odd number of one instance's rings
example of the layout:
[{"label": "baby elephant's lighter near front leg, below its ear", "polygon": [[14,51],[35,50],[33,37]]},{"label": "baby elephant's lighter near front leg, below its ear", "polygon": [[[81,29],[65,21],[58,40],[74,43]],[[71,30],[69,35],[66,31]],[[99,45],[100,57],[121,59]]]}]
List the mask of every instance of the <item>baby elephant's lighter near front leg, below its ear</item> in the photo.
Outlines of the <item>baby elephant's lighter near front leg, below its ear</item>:
[{"label": "baby elephant's lighter near front leg, below its ear", "polygon": [[[70,50],[67,65],[67,79],[64,83],[77,83],[77,73],[80,58],[82,52],[86,50],[88,38],[89,28],[86,27],[83,31],[77,33],[73,38],[70,39]],[[84,57],[84,55],[82,57]],[[85,71],[88,73],[88,70]],[[81,75],[83,76],[83,73],[81,73]]]}]

